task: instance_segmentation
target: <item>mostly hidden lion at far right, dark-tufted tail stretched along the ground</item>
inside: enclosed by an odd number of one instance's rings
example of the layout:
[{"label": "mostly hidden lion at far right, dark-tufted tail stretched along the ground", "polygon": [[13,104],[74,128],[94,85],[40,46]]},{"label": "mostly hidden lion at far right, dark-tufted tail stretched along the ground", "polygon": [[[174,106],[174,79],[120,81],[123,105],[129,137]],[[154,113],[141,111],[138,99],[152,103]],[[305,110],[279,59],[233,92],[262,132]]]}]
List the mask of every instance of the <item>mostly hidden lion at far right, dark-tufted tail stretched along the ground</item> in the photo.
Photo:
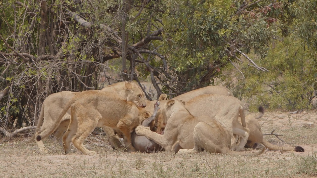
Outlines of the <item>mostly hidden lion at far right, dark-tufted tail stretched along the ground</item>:
[{"label": "mostly hidden lion at far right, dark-tufted tail stretched along the ground", "polygon": [[296,147],[277,146],[264,140],[261,126],[257,122],[257,119],[263,116],[264,108],[262,106],[259,106],[258,110],[260,113],[258,116],[254,117],[252,115],[247,115],[245,117],[246,126],[247,128],[250,129],[250,135],[249,135],[247,143],[245,144],[245,148],[252,148],[255,143],[262,143],[268,149],[282,150],[282,151],[295,151],[295,152],[305,151],[305,149],[302,148],[301,146],[296,146]]}]

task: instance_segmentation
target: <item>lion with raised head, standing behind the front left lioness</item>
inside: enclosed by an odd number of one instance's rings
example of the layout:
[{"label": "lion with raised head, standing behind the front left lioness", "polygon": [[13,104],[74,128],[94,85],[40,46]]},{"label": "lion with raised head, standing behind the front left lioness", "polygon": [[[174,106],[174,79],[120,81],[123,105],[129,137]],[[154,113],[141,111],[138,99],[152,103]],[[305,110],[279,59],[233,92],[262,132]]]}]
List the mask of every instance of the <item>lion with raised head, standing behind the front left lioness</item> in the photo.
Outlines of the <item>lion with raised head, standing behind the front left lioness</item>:
[{"label": "lion with raised head, standing behind the front left lioness", "polygon": [[[130,99],[139,107],[146,106],[145,94],[134,82],[118,82],[109,86],[106,86],[102,89],[102,91],[113,92],[123,99]],[[68,103],[68,101],[73,98],[78,92],[58,92],[49,95],[43,102],[42,108],[40,111],[39,119],[36,125],[35,133],[33,134],[30,140],[36,139],[36,143],[39,149],[43,152],[47,152],[45,146],[42,142],[42,139],[48,137],[51,133],[54,133],[56,140],[62,145],[61,137],[64,131],[68,128],[69,120],[70,120],[70,110],[64,115],[60,122],[58,122],[58,116],[61,111]],[[137,97],[133,97],[137,96]],[[133,100],[131,100],[133,99]],[[45,118],[45,119],[44,119]],[[44,121],[43,121],[44,119]],[[43,121],[43,124],[42,124]],[[42,128],[40,130],[40,126],[42,124]],[[113,148],[119,148],[121,143],[117,137],[114,136],[113,130],[109,127],[103,127],[103,130],[106,132],[109,143]]]}]

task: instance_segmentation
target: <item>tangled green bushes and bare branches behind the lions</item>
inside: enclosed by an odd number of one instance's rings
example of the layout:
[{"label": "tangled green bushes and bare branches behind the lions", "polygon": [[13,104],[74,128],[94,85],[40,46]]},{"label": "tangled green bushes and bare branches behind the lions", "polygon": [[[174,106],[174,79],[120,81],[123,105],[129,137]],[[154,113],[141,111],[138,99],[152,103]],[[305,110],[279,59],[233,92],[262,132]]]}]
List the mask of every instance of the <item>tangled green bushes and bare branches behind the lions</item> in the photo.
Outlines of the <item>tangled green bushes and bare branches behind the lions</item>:
[{"label": "tangled green bushes and bare branches behind the lions", "polygon": [[220,81],[251,109],[311,108],[316,11],[313,0],[1,1],[0,126],[33,124],[49,94],[110,79],[149,77],[171,96]]}]

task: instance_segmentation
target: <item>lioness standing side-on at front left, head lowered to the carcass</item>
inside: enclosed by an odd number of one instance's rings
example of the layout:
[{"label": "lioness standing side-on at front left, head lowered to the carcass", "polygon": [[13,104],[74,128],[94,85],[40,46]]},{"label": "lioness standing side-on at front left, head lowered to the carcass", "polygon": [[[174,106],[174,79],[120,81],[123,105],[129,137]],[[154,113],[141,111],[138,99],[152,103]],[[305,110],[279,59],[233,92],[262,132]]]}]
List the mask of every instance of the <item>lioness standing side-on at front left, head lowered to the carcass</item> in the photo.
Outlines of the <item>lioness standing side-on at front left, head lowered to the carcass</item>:
[{"label": "lioness standing side-on at front left, head lowered to the carcass", "polygon": [[[128,100],[134,99],[128,98]],[[121,99],[112,92],[98,90],[80,92],[66,104],[58,121],[62,119],[69,108],[71,118],[68,129],[63,135],[66,154],[72,151],[71,140],[83,154],[95,155],[96,152],[86,149],[83,143],[97,126],[108,126],[120,130],[124,136],[127,151],[135,150],[131,144],[130,132],[139,125],[139,109],[133,102]],[[74,133],[76,135],[71,139]]]}]

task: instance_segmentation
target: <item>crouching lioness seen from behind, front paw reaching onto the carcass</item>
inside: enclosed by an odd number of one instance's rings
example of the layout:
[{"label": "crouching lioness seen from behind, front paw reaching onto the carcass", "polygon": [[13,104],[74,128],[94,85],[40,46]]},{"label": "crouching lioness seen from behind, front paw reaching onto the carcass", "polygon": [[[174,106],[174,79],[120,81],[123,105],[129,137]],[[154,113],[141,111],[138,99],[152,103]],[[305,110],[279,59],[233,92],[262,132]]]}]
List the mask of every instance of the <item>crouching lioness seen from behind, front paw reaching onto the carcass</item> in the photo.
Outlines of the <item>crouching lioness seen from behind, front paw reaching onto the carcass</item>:
[{"label": "crouching lioness seen from behind, front paw reaching onto the carcass", "polygon": [[[258,144],[262,149],[256,153],[231,151],[232,131],[227,125],[211,116],[194,117],[177,99],[171,99],[163,106],[162,115],[167,120],[164,135],[153,132],[142,125],[139,125],[135,132],[153,140],[165,150],[182,153],[189,152],[183,148],[191,149],[193,152],[204,149],[210,153],[248,156],[257,156],[265,151],[262,144]],[[179,148],[182,149],[178,151]]]}]

